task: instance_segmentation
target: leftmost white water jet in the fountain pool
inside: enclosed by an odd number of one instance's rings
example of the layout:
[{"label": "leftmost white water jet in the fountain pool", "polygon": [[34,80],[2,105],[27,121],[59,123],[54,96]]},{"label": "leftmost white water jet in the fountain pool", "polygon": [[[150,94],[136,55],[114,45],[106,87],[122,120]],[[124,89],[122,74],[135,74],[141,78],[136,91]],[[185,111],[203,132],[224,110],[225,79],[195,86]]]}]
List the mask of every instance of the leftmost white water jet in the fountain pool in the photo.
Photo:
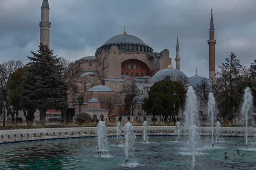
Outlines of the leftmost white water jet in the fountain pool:
[{"label": "leftmost white water jet in the fountain pool", "polygon": [[107,127],[105,121],[99,121],[97,125],[97,136],[98,136],[98,156],[102,155],[102,152],[107,152],[108,141],[107,141]]}]

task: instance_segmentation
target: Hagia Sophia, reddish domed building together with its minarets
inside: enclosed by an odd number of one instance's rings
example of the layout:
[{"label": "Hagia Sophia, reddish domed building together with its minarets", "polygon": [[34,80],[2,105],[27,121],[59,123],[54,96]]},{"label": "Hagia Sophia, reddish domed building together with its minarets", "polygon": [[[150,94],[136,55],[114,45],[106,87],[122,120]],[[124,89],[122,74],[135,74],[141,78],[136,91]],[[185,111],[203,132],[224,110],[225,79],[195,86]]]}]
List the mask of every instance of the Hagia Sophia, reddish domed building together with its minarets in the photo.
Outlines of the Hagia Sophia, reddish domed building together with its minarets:
[{"label": "Hagia Sophia, reddish domed building together with its minarets", "polygon": [[[43,0],[41,6],[41,36],[40,42],[49,46],[49,3]],[[76,64],[82,67],[79,79],[79,92],[76,95],[69,95],[69,108],[67,115],[69,119],[77,113],[89,113],[93,119],[107,118],[109,115],[130,115],[129,109],[125,105],[124,99],[128,93],[136,93],[136,107],[134,115],[127,119],[133,119],[134,116],[141,115],[143,112],[141,104],[143,98],[147,96],[148,90],[155,82],[170,77],[172,81],[182,81],[184,85],[195,86],[202,79],[215,81],[215,43],[214,24],[212,11],[209,27],[209,78],[198,76],[187,77],[180,68],[179,40],[177,36],[175,64],[170,58],[170,51],[163,49],[160,52],[154,52],[153,48],[148,46],[139,37],[128,34],[124,28],[122,34],[115,35],[102,43],[93,56],[81,57],[76,60]],[[174,66],[175,65],[175,68]],[[78,101],[80,97],[81,101]],[[111,112],[108,107],[100,101],[113,101]],[[79,108],[80,107],[80,108]],[[206,104],[198,97],[198,108],[202,115],[206,114]],[[182,119],[183,113],[180,111],[177,116]],[[145,117],[144,117],[145,119]]]}]

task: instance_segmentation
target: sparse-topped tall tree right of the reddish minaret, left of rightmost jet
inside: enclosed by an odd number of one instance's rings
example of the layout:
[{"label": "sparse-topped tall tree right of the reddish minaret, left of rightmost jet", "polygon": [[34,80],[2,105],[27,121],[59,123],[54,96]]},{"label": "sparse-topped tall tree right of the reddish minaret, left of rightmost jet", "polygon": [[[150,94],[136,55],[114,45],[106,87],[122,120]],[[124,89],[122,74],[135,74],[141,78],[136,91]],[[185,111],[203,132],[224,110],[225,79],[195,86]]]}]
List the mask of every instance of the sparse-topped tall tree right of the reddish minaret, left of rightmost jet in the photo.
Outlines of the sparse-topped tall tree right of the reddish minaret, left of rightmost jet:
[{"label": "sparse-topped tall tree right of the reddish minaret, left of rightmost jet", "polygon": [[215,82],[215,98],[222,117],[237,113],[243,96],[243,90],[240,90],[239,85],[243,81],[244,67],[233,52],[225,61],[218,66],[220,71],[216,73]]}]

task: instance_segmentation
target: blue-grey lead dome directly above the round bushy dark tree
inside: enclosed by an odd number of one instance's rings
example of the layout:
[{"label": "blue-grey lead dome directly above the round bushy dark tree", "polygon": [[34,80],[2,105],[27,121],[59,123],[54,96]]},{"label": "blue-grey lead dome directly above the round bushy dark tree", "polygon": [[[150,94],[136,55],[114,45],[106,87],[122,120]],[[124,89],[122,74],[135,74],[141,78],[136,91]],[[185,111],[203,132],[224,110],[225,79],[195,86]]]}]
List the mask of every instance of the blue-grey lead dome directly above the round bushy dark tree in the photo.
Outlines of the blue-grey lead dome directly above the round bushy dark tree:
[{"label": "blue-grey lead dome directly above the round bushy dark tree", "polygon": [[189,83],[189,78],[182,71],[174,68],[166,68],[158,71],[150,80],[149,84],[153,85],[155,82],[165,79],[166,76],[170,77],[171,81],[182,81],[186,84]]}]

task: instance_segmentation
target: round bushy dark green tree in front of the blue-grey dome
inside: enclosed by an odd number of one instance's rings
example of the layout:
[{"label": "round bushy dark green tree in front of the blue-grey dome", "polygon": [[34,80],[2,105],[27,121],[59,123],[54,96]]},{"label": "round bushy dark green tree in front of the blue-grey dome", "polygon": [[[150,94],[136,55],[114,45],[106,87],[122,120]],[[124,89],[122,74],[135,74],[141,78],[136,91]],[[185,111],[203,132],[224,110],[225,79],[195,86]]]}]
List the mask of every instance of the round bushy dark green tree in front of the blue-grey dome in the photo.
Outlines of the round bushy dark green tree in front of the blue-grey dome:
[{"label": "round bushy dark green tree in front of the blue-grey dome", "polygon": [[[176,99],[172,94],[177,94]],[[162,115],[165,121],[168,116],[174,117],[174,99],[176,113],[185,105],[186,89],[180,82],[172,82],[169,77],[155,82],[148,91],[148,97],[143,99],[142,108],[147,114]]]}]

